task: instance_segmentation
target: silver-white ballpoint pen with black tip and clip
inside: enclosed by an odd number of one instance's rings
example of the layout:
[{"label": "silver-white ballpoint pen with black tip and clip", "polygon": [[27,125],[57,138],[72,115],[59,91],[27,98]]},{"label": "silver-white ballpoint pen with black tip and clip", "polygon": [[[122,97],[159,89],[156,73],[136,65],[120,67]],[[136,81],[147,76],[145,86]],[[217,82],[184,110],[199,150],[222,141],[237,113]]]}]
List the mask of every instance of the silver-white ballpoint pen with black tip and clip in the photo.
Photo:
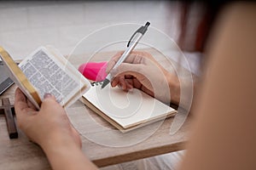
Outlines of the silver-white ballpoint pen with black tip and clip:
[{"label": "silver-white ballpoint pen with black tip and clip", "polygon": [[[137,42],[140,41],[140,39],[143,37],[144,33],[148,30],[149,25],[150,25],[150,23],[147,22],[145,24],[145,26],[139,27],[137,29],[137,31],[135,31],[133,33],[129,42],[127,43],[127,48],[126,48],[124,54],[122,54],[121,57],[119,58],[119,60],[116,62],[116,64],[113,65],[113,69],[117,68],[122,62],[124,62],[124,60],[128,57],[128,55],[133,50],[133,48],[135,48],[135,46],[137,45]],[[102,83],[102,88],[105,88],[108,85],[108,83],[111,81],[111,79],[112,79],[112,76],[109,72],[108,76],[105,78],[105,80]]]}]

